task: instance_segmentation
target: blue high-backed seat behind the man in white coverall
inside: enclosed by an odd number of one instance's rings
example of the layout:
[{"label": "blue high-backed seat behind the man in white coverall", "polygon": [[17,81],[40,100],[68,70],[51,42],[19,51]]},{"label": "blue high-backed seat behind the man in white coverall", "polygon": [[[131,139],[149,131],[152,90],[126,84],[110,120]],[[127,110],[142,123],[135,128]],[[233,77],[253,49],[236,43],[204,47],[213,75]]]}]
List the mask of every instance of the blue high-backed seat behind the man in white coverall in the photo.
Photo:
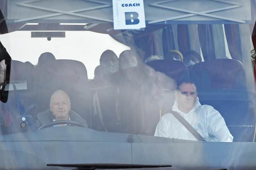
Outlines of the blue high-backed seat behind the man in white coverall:
[{"label": "blue high-backed seat behind the man in white coverall", "polygon": [[246,91],[243,65],[233,59],[216,59],[188,67],[198,86],[201,104],[208,104],[223,116],[234,141],[252,141],[255,127],[253,94]]}]

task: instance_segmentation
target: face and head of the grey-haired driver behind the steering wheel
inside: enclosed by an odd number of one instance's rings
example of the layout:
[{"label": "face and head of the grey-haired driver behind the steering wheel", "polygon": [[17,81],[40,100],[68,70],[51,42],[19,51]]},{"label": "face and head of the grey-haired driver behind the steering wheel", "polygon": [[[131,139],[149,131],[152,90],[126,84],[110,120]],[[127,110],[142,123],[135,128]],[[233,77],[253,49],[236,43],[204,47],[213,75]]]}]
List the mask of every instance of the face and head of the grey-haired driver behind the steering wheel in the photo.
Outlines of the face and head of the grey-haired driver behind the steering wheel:
[{"label": "face and head of the grey-haired driver behind the steering wheel", "polygon": [[68,120],[68,113],[70,111],[68,96],[63,93],[54,94],[50,109],[56,120]]}]

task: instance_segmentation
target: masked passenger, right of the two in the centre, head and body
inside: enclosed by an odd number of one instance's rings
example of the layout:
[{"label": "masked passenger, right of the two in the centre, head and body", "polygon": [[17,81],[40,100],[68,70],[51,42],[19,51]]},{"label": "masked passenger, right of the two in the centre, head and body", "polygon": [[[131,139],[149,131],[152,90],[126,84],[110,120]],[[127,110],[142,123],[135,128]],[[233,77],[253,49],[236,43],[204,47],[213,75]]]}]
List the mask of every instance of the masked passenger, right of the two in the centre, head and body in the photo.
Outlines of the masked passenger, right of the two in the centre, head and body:
[{"label": "masked passenger, right of the two in the centre, head and body", "polygon": [[[125,50],[119,55],[119,94],[117,111],[120,116],[122,133],[141,133],[138,126],[141,117],[141,88],[143,84],[144,70],[140,65],[135,51]],[[139,64],[138,64],[139,63]],[[138,66],[140,65],[140,66]]]}]

